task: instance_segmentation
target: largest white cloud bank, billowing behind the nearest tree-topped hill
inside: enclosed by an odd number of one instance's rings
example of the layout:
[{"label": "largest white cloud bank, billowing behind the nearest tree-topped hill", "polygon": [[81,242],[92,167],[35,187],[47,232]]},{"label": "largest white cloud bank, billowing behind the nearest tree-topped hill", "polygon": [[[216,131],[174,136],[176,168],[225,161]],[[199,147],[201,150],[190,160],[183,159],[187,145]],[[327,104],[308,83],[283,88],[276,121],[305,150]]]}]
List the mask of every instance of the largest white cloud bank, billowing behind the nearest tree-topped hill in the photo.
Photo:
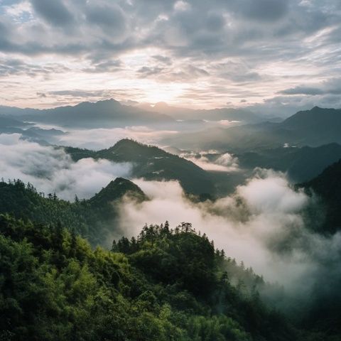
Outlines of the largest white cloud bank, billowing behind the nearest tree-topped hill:
[{"label": "largest white cloud bank, billowing behind the nearest tree-topped hill", "polygon": [[168,220],[175,227],[192,222],[227,256],[244,261],[266,280],[283,283],[288,292],[300,294],[318,282],[326,259],[340,259],[341,234],[325,237],[305,227],[303,212],[315,203],[293,190],[281,173],[259,170],[233,195],[199,204],[190,202],[177,182],[134,182],[151,200],[121,204],[120,226],[127,237],[138,234],[144,223]]}]

